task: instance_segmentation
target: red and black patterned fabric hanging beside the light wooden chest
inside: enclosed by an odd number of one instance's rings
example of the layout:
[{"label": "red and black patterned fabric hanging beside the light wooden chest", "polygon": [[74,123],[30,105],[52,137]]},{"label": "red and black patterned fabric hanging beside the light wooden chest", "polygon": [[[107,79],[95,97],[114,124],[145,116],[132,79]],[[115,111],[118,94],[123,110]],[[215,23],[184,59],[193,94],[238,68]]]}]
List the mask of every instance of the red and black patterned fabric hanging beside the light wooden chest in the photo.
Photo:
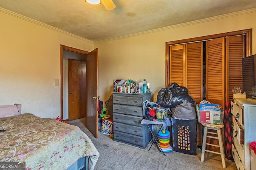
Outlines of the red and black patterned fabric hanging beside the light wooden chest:
[{"label": "red and black patterned fabric hanging beside the light wooden chest", "polygon": [[230,103],[226,102],[225,113],[224,113],[224,132],[225,132],[225,155],[228,160],[234,160],[232,156],[232,137],[233,137],[233,127],[232,123],[232,113],[230,111]]}]

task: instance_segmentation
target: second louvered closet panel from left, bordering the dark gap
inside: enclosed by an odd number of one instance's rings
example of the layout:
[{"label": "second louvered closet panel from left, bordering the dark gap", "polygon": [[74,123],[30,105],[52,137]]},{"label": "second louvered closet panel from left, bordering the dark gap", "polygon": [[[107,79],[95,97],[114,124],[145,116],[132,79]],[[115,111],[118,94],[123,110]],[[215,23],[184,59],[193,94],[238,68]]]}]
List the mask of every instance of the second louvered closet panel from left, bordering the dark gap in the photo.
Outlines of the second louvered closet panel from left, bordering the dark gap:
[{"label": "second louvered closet panel from left, bordering the dark gap", "polygon": [[202,101],[203,92],[203,42],[186,44],[185,87],[196,103]]}]

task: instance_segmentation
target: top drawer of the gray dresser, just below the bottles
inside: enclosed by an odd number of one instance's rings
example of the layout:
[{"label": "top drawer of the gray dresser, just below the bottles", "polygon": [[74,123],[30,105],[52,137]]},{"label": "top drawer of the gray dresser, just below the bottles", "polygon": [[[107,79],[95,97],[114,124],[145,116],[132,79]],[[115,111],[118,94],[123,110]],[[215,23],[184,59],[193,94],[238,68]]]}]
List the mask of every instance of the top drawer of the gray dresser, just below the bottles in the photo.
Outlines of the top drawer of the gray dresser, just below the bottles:
[{"label": "top drawer of the gray dresser, just below the bottles", "polygon": [[[142,107],[143,98],[138,96],[131,96],[132,94],[127,95],[114,95],[113,96],[113,104],[124,104],[131,106],[140,106]],[[129,100],[128,100],[129,99]]]}]

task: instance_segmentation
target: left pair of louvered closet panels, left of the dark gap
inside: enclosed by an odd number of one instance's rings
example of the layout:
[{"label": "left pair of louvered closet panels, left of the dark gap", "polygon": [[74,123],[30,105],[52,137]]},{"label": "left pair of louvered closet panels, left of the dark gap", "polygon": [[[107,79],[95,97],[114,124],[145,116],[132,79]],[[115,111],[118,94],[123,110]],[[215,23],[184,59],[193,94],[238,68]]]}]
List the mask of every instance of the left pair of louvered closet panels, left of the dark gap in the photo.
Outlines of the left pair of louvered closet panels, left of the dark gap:
[{"label": "left pair of louvered closet panels, left of the dark gap", "polygon": [[185,86],[192,99],[202,101],[203,42],[170,46],[170,82]]}]

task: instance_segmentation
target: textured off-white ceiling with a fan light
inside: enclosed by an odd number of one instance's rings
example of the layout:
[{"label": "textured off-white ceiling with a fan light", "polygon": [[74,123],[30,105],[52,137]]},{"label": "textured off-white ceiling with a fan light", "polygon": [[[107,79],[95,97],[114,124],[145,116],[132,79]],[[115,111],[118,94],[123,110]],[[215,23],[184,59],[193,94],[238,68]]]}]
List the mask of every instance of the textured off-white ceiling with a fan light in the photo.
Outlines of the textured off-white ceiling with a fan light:
[{"label": "textured off-white ceiling with a fan light", "polygon": [[113,0],[114,10],[84,0],[0,0],[0,7],[90,41],[256,8],[256,0]]}]

